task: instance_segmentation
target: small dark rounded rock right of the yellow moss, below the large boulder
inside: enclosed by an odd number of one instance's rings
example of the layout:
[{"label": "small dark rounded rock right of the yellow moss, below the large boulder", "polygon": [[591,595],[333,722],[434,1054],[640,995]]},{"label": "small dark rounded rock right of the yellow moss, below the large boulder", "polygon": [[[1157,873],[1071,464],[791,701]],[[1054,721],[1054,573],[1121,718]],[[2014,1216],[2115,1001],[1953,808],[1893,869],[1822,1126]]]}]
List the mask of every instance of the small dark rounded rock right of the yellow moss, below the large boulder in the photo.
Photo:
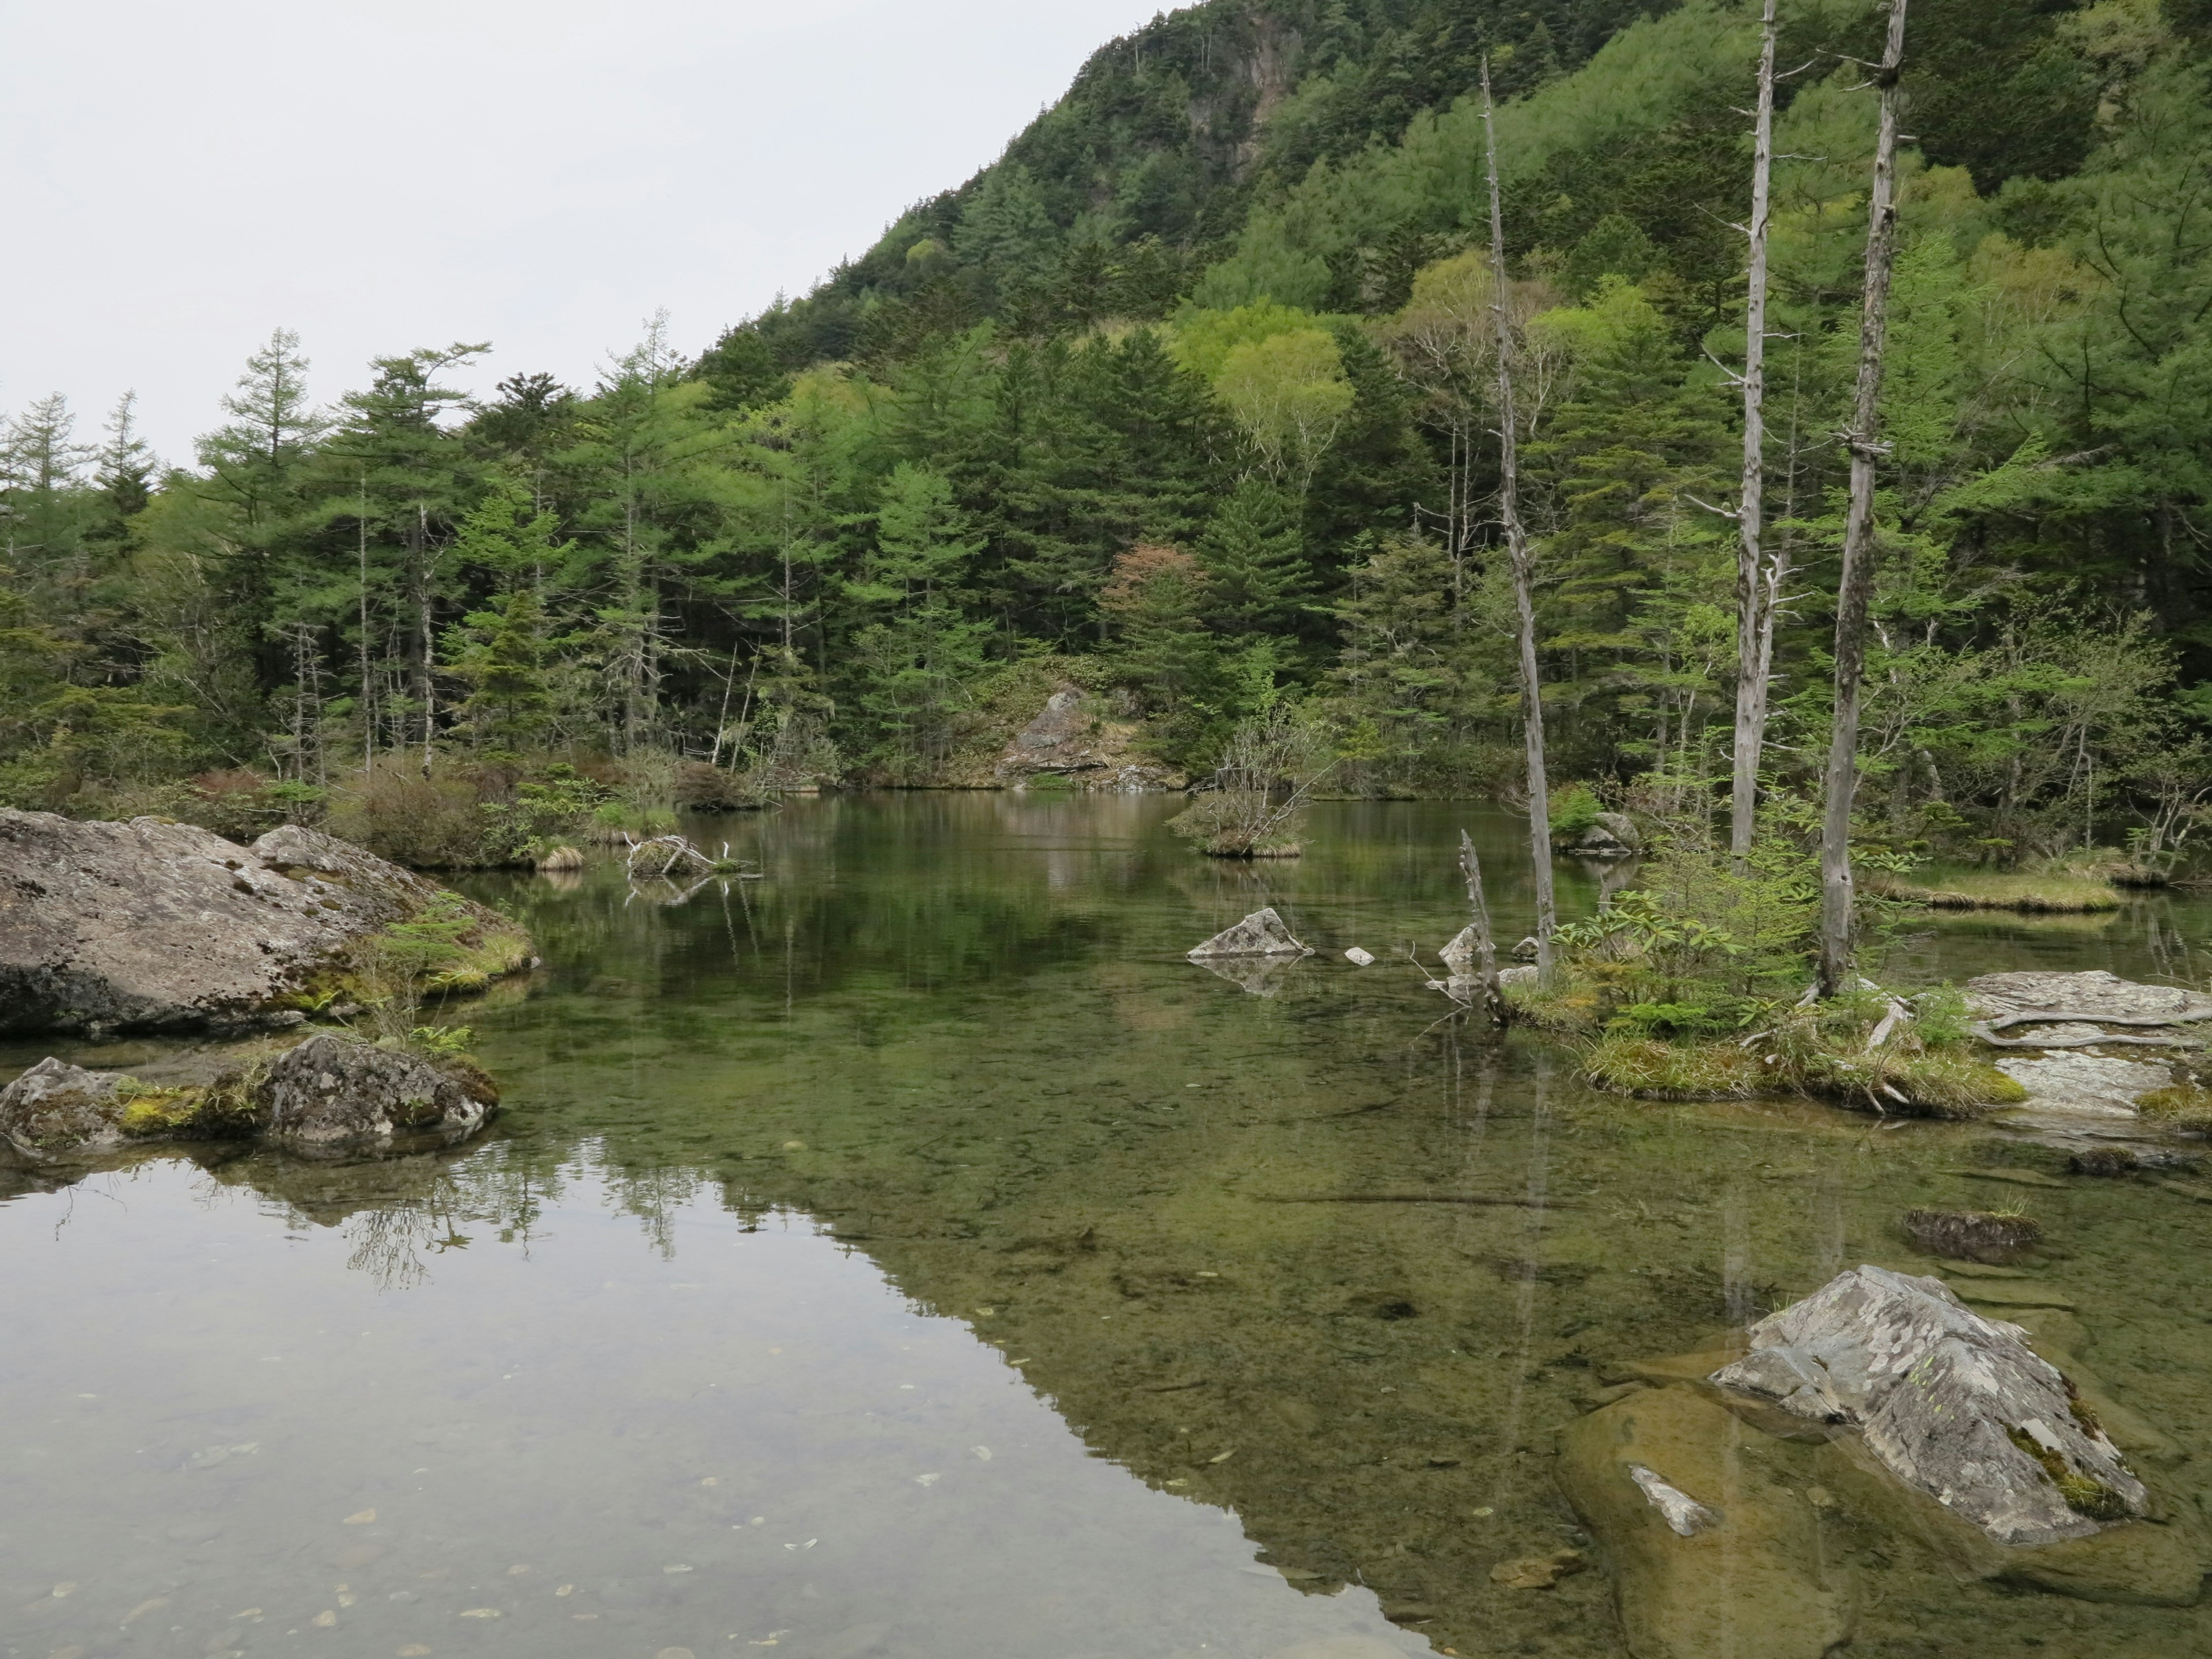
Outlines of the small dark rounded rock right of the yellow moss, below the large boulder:
[{"label": "small dark rounded rock right of the yellow moss, below the large boulder", "polygon": [[498,1110],[493,1082],[460,1060],[422,1060],[330,1033],[279,1055],[252,1086],[268,1133],[303,1150],[389,1141],[400,1130],[465,1139]]}]

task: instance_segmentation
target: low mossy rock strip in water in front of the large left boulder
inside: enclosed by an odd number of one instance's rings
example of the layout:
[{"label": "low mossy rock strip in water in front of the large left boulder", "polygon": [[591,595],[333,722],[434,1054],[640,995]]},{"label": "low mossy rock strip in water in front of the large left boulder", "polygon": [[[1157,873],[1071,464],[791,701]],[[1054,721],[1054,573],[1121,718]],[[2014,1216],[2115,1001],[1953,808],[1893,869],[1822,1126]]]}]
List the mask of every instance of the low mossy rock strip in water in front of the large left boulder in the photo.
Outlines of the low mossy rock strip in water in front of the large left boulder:
[{"label": "low mossy rock strip in water in front of the large left boulder", "polygon": [[498,1106],[498,1084],[467,1060],[325,1031],[206,1086],[161,1088],[40,1060],[0,1088],[0,1141],[33,1164],[254,1135],[301,1152],[383,1150],[403,1139],[451,1146]]}]

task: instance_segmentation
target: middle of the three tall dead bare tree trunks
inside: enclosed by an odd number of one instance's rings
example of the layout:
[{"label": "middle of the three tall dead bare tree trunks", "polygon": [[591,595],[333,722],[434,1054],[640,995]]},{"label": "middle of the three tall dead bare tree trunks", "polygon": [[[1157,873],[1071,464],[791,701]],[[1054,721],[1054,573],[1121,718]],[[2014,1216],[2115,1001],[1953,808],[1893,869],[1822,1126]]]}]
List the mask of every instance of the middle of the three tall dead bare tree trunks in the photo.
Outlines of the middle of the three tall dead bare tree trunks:
[{"label": "middle of the three tall dead bare tree trunks", "polygon": [[1743,303],[1743,491],[1736,500],[1736,752],[1730,785],[1728,849],[1736,865],[1752,852],[1759,821],[1759,752],[1767,739],[1767,681],[1774,672],[1774,582],[1761,568],[1765,533],[1767,396],[1767,197],[1774,175],[1774,0],[1759,44],[1759,117],[1752,139],[1750,292]]}]

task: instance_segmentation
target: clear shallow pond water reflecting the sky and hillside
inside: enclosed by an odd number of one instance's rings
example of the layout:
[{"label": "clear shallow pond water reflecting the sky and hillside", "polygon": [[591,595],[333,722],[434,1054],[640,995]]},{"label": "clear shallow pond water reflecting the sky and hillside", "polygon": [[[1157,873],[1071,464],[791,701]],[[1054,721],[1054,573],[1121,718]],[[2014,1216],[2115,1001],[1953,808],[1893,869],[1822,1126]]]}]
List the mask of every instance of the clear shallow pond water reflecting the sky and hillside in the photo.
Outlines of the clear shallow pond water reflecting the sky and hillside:
[{"label": "clear shallow pond water reflecting the sky and hillside", "polygon": [[[1608,1363],[1931,1270],[1898,1214],[2006,1194],[2212,1486],[2212,1206],[1993,1183],[2064,1159],[1989,1128],[1595,1095],[1422,984],[1462,823],[1528,925],[1509,818],[1325,805],[1234,867],[1177,805],[825,796],[692,825],[763,880],[467,880],[544,953],[445,1015],[487,1137],[0,1170],[0,1655],[1617,1659],[1601,1571],[1491,1579],[1588,1542],[1551,1460]],[[1263,902],[1321,953],[1181,958]],[[2208,940],[2159,896],[1893,969],[2194,980]],[[2205,1608],[1858,1566],[1854,1655],[2212,1652]]]}]

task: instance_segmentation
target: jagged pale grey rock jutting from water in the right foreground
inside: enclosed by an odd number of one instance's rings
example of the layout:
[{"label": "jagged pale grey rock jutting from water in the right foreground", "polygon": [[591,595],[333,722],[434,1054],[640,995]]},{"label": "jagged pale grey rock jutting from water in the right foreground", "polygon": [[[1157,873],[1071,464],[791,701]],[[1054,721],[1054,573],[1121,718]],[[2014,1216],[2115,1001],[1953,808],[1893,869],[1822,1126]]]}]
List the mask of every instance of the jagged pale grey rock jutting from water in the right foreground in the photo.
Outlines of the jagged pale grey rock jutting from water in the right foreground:
[{"label": "jagged pale grey rock jutting from water in the right foreground", "polygon": [[1940,1279],[1854,1267],[1752,1325],[1750,1345],[1714,1385],[1856,1427],[1889,1473],[2000,1544],[2086,1537],[2150,1506],[2026,1334]]}]

